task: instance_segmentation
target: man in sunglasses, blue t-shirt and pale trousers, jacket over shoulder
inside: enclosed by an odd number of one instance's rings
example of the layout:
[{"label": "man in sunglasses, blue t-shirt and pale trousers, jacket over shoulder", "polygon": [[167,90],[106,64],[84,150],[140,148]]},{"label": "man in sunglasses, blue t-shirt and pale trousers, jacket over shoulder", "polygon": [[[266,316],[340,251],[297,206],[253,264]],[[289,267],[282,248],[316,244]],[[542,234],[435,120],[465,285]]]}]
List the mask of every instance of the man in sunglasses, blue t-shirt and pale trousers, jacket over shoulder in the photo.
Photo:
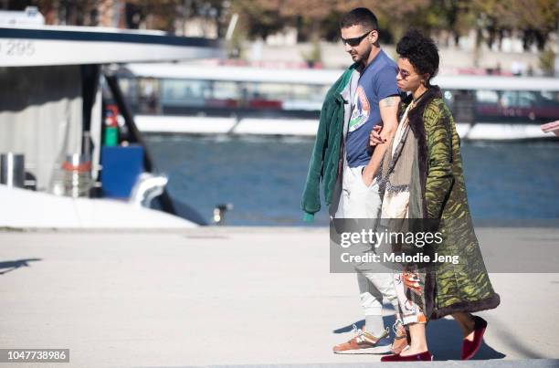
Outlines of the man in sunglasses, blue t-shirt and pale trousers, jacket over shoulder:
[{"label": "man in sunglasses, blue t-shirt and pale trousers, jacket over shoulder", "polygon": [[[369,146],[369,135],[382,121],[380,139],[389,142],[397,127],[399,94],[396,63],[381,49],[376,16],[363,7],[353,9],[340,22],[345,51],[353,66],[332,86],[322,106],[319,131],[303,192],[301,208],[311,220],[320,210],[322,179],[331,217],[377,218],[381,198],[375,175],[386,144]],[[339,97],[342,99],[339,99]],[[341,105],[343,101],[343,106]],[[378,128],[376,128],[378,129]],[[339,142],[341,141],[341,142]],[[372,251],[372,245],[364,245]],[[357,274],[365,325],[349,342],[336,345],[336,353],[390,351],[382,318],[383,299],[396,308],[396,290],[390,273],[367,272],[353,265]],[[406,346],[405,330],[398,329],[393,351]],[[403,346],[400,346],[402,345]],[[396,346],[397,345],[397,346]]]}]

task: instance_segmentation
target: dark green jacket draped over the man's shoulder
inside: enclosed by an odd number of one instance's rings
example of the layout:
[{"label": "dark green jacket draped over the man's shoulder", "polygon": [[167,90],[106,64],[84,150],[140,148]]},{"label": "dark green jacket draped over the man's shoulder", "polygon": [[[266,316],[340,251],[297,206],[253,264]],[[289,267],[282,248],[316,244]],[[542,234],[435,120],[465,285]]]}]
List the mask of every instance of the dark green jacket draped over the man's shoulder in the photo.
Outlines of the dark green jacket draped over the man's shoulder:
[{"label": "dark green jacket draped over the man's shoulder", "polygon": [[322,103],[321,118],[314,148],[312,149],[309,173],[303,189],[301,209],[303,220],[312,221],[314,214],[321,210],[320,183],[322,181],[326,205],[332,203],[332,193],[338,178],[343,137],[344,105],[347,101],[341,95],[352,77],[353,64],[336,80],[326,93]]}]

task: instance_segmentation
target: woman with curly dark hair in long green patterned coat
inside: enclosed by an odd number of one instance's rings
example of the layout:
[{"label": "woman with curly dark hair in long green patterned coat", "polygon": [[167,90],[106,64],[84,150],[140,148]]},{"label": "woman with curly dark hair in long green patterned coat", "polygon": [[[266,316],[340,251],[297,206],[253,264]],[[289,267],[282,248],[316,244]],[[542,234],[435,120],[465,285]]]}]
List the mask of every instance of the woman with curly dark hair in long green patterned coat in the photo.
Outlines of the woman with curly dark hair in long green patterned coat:
[{"label": "woman with curly dark hair in long green patterned coat", "polygon": [[[430,361],[426,324],[452,315],[464,336],[462,360],[480,348],[487,321],[470,312],[500,303],[491,286],[475,236],[462,173],[459,135],[440,89],[430,85],[438,70],[432,39],[409,31],[396,47],[398,88],[409,93],[400,123],[386,150],[381,182],[385,187],[383,218],[439,219],[438,255],[459,256],[458,264],[406,268],[395,274],[400,309],[411,342],[383,362]],[[371,143],[378,143],[372,132]]]}]

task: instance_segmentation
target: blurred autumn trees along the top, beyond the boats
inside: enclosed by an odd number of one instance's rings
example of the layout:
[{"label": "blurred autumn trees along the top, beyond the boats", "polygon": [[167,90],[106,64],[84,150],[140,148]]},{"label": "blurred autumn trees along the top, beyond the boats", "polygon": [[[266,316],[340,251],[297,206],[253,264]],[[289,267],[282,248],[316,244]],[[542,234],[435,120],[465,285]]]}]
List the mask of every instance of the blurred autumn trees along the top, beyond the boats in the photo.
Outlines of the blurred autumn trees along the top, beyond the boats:
[{"label": "blurred autumn trees along the top, beyond the boats", "polygon": [[171,33],[198,18],[214,24],[217,37],[225,36],[237,14],[237,37],[265,38],[292,27],[301,42],[338,40],[340,16],[357,6],[374,11],[381,40],[387,43],[414,26],[439,41],[458,42],[473,31],[489,47],[500,47],[504,37],[514,35],[525,49],[544,50],[559,23],[557,0],[0,0],[5,9],[27,5],[37,6],[47,23],[77,26],[103,25],[103,12],[111,16],[114,9],[120,12],[117,26]]}]

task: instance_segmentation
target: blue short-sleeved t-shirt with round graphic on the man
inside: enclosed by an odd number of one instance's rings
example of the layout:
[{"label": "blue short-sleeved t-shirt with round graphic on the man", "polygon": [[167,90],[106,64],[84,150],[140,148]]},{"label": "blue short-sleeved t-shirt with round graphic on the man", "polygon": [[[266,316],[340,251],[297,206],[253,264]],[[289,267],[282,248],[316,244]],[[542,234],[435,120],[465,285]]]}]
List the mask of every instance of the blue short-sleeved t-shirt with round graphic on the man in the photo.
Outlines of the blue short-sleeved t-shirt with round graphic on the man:
[{"label": "blue short-sleeved t-shirt with round graphic on the man", "polygon": [[364,69],[353,97],[345,152],[350,167],[366,165],[371,160],[369,133],[381,121],[378,102],[399,94],[396,86],[396,63],[381,50]]}]

